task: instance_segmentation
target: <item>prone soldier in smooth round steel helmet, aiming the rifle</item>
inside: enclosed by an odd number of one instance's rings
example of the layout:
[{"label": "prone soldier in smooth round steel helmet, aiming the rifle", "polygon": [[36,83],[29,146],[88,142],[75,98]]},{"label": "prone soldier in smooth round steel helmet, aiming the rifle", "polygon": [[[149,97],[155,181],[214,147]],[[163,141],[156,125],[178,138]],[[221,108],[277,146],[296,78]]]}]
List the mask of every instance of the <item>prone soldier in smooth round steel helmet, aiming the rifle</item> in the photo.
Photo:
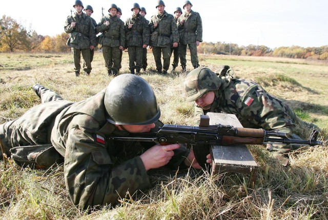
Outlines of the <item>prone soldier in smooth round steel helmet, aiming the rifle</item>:
[{"label": "prone soldier in smooth round steel helmet, aiming the rifle", "polygon": [[[128,192],[132,195],[148,189],[150,169],[165,165],[172,169],[201,168],[193,150],[179,144],[109,139],[156,132],[162,126],[154,91],[139,76],[117,76],[106,89],[75,103],[39,84],[33,90],[42,104],[14,121],[0,124],[1,149],[16,162],[39,168],[64,159],[66,189],[80,209],[114,206]],[[140,147],[144,147],[143,153]],[[125,156],[127,152],[130,157]],[[207,158],[211,163],[210,155]]]}]

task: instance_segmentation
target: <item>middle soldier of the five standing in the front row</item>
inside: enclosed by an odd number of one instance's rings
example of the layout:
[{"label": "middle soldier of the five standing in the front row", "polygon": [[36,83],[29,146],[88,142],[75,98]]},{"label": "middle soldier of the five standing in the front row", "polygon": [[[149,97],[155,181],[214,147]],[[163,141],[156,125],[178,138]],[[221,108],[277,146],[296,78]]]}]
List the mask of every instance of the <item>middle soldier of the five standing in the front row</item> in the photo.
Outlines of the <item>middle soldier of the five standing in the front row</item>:
[{"label": "middle soldier of the five standing in the front row", "polygon": [[149,45],[149,25],[144,16],[139,14],[140,6],[133,4],[133,14],[125,21],[126,40],[129,53],[129,69],[131,74],[140,73],[142,68],[142,48]]}]

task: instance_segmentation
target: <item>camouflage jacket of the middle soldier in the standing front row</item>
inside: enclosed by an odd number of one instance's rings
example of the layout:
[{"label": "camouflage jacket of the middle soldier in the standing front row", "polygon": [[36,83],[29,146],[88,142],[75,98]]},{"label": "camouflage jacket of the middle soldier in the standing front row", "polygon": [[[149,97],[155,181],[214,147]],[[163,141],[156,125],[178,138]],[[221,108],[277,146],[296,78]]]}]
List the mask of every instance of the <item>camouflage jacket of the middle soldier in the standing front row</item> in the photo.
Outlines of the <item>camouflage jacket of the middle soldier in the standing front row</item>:
[{"label": "camouflage jacket of the middle soldier in the standing front row", "polygon": [[[129,25],[132,24],[132,28],[129,29]],[[145,17],[138,14],[136,17],[129,17],[125,21],[126,31],[126,46],[137,46],[149,45],[149,24]]]}]

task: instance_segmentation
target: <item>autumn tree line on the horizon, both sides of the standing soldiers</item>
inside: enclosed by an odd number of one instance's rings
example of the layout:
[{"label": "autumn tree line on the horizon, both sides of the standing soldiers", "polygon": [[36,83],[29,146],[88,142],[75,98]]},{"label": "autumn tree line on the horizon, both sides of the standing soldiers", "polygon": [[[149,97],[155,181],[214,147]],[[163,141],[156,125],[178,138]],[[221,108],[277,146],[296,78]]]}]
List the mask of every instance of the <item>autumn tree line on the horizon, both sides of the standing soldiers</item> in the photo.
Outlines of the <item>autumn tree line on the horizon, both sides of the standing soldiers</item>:
[{"label": "autumn tree line on the horizon, both sides of the standing soldiers", "polygon": [[[68,52],[69,34],[63,32],[54,37],[28,31],[10,16],[0,19],[0,52]],[[271,49],[264,45],[238,46],[236,43],[202,42],[197,48],[200,54],[224,54],[237,56],[273,56],[300,59],[328,60],[328,45],[321,47],[279,47]]]}]

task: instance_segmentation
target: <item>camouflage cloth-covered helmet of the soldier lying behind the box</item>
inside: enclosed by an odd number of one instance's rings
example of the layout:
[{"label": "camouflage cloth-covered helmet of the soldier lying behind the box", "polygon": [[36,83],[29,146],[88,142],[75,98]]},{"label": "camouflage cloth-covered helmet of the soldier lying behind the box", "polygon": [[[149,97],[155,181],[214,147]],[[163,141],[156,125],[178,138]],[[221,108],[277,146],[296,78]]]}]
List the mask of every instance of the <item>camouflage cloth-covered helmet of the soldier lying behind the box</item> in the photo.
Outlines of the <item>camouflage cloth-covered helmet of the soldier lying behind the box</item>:
[{"label": "camouflage cloth-covered helmet of the soldier lying behind the box", "polygon": [[222,81],[208,68],[196,68],[185,79],[187,101],[192,102],[210,91],[218,90]]}]

